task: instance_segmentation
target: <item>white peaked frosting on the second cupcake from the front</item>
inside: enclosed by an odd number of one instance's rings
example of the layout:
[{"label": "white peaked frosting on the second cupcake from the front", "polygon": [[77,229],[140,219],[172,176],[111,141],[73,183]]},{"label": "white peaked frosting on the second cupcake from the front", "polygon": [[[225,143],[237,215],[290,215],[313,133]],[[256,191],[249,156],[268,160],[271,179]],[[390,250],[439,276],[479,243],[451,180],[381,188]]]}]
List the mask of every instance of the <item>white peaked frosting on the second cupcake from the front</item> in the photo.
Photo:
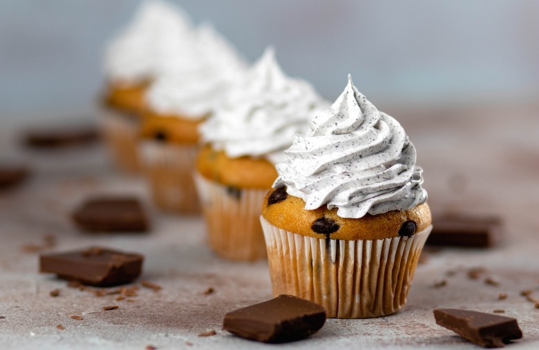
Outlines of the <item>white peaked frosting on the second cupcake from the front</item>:
[{"label": "white peaked frosting on the second cupcake from the front", "polygon": [[328,105],[306,81],[287,77],[268,48],[202,124],[202,140],[229,157],[281,162],[293,135],[304,133],[314,113]]}]

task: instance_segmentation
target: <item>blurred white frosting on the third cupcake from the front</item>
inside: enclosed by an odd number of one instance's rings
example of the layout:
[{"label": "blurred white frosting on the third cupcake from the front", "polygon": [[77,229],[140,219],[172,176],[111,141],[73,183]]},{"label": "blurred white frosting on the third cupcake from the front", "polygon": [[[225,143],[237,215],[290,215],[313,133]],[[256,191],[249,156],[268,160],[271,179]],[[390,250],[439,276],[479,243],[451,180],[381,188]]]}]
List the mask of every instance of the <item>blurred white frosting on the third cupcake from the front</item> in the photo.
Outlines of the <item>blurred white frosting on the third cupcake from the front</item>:
[{"label": "blurred white frosting on the third cupcake from the front", "polygon": [[164,74],[146,95],[152,110],[161,114],[205,117],[247,70],[236,50],[209,25],[200,26],[192,50],[177,57],[163,66]]}]

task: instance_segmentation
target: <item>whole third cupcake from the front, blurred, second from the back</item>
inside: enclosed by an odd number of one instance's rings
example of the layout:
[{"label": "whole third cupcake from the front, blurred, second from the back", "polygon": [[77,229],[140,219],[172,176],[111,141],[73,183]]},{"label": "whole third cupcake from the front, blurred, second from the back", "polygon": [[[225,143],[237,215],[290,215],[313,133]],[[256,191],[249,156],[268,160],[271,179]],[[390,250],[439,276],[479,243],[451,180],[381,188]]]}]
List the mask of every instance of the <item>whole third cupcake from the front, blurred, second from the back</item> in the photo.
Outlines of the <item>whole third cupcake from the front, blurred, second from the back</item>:
[{"label": "whole third cupcake from the front, blurred, second from the back", "polygon": [[155,204],[180,214],[200,213],[193,183],[198,126],[247,64],[209,25],[198,28],[189,52],[178,52],[146,93],[140,155]]}]

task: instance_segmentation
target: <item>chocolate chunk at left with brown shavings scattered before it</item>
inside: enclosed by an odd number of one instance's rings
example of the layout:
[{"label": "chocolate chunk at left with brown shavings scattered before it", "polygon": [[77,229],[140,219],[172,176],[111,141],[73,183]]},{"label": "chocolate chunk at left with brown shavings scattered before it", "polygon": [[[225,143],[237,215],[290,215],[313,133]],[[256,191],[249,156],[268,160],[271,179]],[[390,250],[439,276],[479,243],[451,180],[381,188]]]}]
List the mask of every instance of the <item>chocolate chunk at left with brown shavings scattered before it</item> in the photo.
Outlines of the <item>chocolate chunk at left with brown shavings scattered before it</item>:
[{"label": "chocolate chunk at left with brown shavings scattered before it", "polygon": [[92,286],[115,286],[138,278],[144,257],[102,247],[41,255],[39,271]]}]

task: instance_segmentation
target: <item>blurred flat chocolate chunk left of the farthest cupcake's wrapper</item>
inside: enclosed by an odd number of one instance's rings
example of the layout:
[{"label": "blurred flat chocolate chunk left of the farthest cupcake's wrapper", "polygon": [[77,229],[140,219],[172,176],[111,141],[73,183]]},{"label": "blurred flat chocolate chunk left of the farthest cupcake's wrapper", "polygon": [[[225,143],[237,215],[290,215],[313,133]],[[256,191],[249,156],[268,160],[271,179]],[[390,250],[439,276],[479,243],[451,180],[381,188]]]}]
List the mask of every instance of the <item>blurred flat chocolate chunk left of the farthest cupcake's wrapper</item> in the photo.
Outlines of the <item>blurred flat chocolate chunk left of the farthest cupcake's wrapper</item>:
[{"label": "blurred flat chocolate chunk left of the farthest cupcake's wrapper", "polygon": [[61,125],[32,128],[26,131],[24,143],[35,148],[58,148],[95,142],[99,132],[91,125]]}]

